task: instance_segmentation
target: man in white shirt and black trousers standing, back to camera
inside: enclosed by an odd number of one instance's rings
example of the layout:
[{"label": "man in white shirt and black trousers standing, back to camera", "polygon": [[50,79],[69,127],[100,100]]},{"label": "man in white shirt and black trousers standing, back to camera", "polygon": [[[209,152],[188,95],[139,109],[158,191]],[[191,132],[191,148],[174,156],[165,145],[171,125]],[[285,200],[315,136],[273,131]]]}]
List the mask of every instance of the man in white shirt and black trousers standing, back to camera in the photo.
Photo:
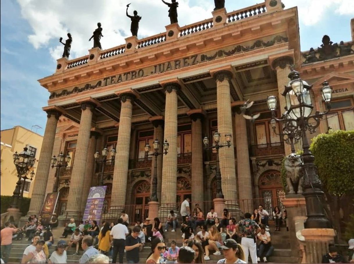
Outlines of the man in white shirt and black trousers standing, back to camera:
[{"label": "man in white shirt and black trousers standing, back to camera", "polygon": [[123,219],[118,219],[118,224],[113,226],[110,236],[113,237],[113,256],[112,263],[116,263],[117,254],[119,252],[119,263],[123,263],[125,237],[129,235],[128,228],[123,224]]}]

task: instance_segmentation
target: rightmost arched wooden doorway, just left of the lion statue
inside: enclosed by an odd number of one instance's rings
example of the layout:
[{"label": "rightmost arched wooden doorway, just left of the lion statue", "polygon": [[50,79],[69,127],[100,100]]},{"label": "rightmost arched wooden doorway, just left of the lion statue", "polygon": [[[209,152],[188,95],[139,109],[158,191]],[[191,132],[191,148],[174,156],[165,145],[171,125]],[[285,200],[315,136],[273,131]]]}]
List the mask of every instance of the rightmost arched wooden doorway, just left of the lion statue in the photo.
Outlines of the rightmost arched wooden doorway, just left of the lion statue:
[{"label": "rightmost arched wooden doorway, just left of the lion statue", "polygon": [[263,208],[269,214],[275,206],[283,212],[284,206],[281,199],[285,198],[285,192],[281,184],[281,175],[278,170],[264,172],[258,180],[259,194],[262,197]]}]

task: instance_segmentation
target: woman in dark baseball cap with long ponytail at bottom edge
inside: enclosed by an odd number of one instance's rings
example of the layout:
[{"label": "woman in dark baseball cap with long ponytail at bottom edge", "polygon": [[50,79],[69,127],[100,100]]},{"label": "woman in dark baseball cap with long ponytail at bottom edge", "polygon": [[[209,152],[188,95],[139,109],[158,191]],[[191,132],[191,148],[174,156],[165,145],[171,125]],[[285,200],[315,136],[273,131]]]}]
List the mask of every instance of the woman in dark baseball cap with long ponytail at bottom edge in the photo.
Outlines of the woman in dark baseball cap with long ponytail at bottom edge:
[{"label": "woman in dark baseball cap with long ponytail at bottom edge", "polygon": [[245,254],[242,246],[234,239],[230,238],[225,240],[224,245],[220,248],[223,249],[224,259],[220,259],[217,263],[247,263],[245,262]]}]

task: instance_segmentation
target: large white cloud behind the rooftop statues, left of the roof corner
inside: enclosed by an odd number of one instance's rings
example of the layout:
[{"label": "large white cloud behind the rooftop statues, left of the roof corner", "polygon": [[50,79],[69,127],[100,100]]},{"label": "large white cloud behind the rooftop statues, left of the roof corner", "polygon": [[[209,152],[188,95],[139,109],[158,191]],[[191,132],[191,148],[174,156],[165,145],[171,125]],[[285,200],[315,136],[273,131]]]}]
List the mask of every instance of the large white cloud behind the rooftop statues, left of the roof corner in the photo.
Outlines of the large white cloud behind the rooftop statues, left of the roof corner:
[{"label": "large white cloud behind the rooftop statues, left of the roof corner", "polygon": [[[73,36],[70,58],[88,54],[93,40],[88,41],[92,32],[97,28],[97,22],[102,23],[103,49],[125,43],[124,34],[130,36],[130,19],[126,17],[126,1],[122,0],[17,0],[21,7],[23,18],[27,19],[33,29],[28,36],[29,42],[36,48],[48,47],[51,56],[57,60],[63,53],[63,40],[70,32]],[[192,6],[189,0],[179,0],[179,24],[194,23],[211,17],[213,2],[204,7]],[[139,24],[139,38],[165,32],[165,25],[169,24],[168,7],[161,1],[136,0],[132,2],[129,13],[137,10],[142,16]],[[58,41],[53,45],[53,41]]]}]

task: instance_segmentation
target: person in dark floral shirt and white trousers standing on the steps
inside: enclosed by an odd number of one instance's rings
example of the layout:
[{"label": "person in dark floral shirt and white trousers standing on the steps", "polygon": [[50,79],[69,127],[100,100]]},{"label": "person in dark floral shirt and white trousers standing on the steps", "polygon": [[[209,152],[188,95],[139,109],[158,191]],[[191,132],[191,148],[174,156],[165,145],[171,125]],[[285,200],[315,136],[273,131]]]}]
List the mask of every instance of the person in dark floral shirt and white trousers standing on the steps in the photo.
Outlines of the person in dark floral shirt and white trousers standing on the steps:
[{"label": "person in dark floral shirt and white trousers standing on the steps", "polygon": [[236,224],[236,230],[241,234],[241,245],[245,252],[245,259],[248,259],[250,252],[252,263],[257,263],[256,236],[261,231],[259,225],[251,220],[251,214],[245,213],[245,219]]}]

